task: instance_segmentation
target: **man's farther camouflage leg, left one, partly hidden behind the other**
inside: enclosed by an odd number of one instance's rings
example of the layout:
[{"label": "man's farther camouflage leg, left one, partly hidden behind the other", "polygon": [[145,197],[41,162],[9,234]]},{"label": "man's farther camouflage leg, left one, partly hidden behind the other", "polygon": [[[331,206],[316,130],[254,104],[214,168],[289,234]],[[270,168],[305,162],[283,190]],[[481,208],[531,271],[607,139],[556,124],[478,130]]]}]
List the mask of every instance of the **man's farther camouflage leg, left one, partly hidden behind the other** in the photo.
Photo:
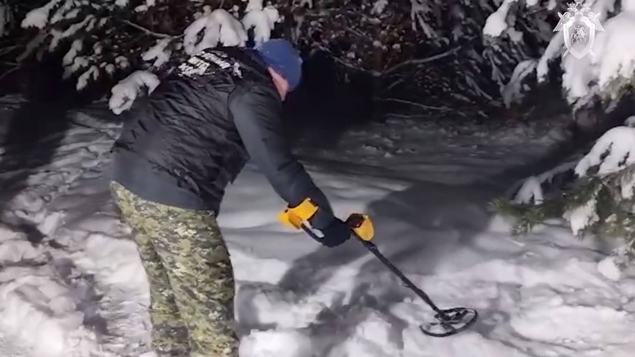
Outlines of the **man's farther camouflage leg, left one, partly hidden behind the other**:
[{"label": "man's farther camouflage leg, left one, partly hidden behind the other", "polygon": [[[150,321],[152,322],[152,347],[159,353],[187,356],[189,343],[187,328],[180,316],[170,280],[161,258],[152,246],[152,239],[145,232],[144,225],[149,218],[147,209],[141,208],[140,201],[122,185],[111,185],[112,195],[121,210],[124,220],[133,229],[138,252],[150,283]],[[161,217],[155,217],[160,220]]]}]

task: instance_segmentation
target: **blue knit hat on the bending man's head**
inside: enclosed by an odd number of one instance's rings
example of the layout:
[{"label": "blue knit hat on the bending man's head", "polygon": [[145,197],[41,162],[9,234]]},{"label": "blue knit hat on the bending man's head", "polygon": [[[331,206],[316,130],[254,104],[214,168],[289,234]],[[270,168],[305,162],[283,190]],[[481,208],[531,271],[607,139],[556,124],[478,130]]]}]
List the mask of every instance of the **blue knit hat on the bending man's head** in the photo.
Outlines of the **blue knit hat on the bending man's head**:
[{"label": "blue knit hat on the bending man's head", "polygon": [[286,79],[289,91],[295,90],[302,77],[302,58],[298,50],[284,39],[270,39],[257,50],[265,64]]}]

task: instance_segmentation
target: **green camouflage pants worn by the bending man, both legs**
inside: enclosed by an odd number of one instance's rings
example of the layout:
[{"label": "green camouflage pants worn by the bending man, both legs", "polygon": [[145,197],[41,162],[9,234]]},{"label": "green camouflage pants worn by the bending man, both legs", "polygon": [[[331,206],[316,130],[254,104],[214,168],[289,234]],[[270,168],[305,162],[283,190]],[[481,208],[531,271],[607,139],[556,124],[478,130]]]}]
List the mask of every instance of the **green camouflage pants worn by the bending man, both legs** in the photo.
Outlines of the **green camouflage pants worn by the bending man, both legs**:
[{"label": "green camouflage pants worn by the bending man, both legs", "polygon": [[154,349],[236,357],[234,277],[214,215],[145,201],[116,182],[110,190],[135,232],[150,283]]}]

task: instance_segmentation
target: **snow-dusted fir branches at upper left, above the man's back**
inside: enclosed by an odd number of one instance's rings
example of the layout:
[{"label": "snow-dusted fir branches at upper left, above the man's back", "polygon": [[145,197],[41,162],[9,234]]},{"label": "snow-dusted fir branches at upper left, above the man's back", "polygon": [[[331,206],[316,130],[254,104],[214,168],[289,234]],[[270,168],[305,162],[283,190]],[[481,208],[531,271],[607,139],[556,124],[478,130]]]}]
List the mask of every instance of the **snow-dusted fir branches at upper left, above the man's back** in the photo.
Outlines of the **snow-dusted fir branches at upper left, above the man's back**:
[{"label": "snow-dusted fir branches at upper left, above the man's back", "polygon": [[21,62],[59,53],[64,76],[74,77],[78,90],[102,76],[112,81],[133,69],[161,76],[170,60],[192,51],[219,44],[244,46],[251,28],[256,43],[268,39],[280,17],[274,6],[262,2],[51,0],[21,20],[33,36],[17,58]]}]

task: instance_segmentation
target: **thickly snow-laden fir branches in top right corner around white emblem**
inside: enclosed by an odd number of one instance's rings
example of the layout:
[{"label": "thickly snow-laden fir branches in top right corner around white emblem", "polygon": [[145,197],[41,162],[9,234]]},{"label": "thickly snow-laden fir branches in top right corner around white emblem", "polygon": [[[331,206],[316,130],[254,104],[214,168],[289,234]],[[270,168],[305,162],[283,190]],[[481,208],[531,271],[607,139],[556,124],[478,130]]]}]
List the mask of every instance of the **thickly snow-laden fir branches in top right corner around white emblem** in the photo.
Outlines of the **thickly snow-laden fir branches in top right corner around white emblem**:
[{"label": "thickly snow-laden fir branches in top right corner around white emblem", "polygon": [[[570,2],[572,3],[572,2]],[[597,14],[605,30],[596,30],[591,51],[594,55],[563,57],[566,52],[563,32],[554,32],[558,13],[565,13],[566,2],[504,0],[488,17],[483,34],[488,44],[492,78],[498,82],[505,104],[519,101],[525,77],[535,74],[538,83],[549,74],[549,64],[559,60],[562,87],[574,109],[589,105],[595,98],[610,110],[635,83],[634,0],[592,0],[585,4]],[[528,46],[531,39],[534,46]],[[536,47],[535,43],[540,44]],[[536,52],[535,48],[540,50]]]}]

